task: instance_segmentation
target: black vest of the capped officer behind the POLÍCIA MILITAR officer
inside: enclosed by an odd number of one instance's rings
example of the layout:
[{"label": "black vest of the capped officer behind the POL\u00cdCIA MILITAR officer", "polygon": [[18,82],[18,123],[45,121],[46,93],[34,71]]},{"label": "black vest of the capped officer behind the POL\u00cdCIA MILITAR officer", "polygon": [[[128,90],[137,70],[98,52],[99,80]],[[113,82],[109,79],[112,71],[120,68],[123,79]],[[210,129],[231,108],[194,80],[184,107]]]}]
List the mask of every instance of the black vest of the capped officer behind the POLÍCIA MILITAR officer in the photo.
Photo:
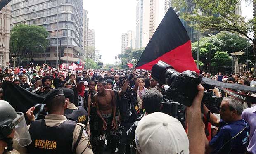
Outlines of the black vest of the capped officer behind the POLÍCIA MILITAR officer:
[{"label": "black vest of the capped officer behind the POL\u00cdCIA MILITAR officer", "polygon": [[78,110],[76,109],[65,109],[64,115],[67,119],[76,121],[77,123],[82,123],[84,125],[87,124],[88,121],[88,113],[87,111],[81,107],[78,106]]}]

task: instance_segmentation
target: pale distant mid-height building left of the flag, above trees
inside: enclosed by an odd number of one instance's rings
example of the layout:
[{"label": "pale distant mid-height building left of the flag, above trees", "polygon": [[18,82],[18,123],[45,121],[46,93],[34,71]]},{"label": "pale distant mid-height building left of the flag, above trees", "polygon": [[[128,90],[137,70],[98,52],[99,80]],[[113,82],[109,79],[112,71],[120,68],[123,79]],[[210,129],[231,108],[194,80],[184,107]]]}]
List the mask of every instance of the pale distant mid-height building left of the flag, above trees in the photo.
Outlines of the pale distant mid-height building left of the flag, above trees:
[{"label": "pale distant mid-height building left of the flag, above trees", "polygon": [[135,49],[135,33],[134,31],[127,31],[127,33],[122,34],[122,49],[121,54],[128,48]]}]

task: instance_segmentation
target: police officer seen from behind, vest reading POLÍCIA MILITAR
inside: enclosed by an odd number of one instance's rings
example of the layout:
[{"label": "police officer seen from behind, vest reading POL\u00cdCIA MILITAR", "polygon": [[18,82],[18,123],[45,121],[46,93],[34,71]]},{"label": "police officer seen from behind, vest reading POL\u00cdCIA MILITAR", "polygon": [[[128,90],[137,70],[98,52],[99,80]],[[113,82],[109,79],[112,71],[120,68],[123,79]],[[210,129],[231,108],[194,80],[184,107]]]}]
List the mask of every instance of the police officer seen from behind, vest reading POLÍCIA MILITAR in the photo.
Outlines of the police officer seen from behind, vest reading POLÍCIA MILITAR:
[{"label": "police officer seen from behind, vest reading POL\u00cdCIA MILITAR", "polygon": [[88,148],[89,136],[84,125],[67,120],[64,109],[67,100],[60,89],[52,90],[44,99],[49,113],[45,119],[31,121],[29,133],[32,143],[28,153],[85,153],[93,154]]}]

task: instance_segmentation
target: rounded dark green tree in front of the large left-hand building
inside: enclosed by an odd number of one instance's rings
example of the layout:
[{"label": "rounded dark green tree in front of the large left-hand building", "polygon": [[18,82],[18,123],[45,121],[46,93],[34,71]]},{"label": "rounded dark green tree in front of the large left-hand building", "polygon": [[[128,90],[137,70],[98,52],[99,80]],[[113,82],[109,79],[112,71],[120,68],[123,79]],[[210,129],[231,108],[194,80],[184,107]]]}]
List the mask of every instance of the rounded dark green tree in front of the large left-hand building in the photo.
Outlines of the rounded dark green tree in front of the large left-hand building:
[{"label": "rounded dark green tree in front of the large left-hand building", "polygon": [[33,60],[33,54],[46,50],[48,36],[49,33],[42,26],[14,26],[10,37],[10,57]]}]

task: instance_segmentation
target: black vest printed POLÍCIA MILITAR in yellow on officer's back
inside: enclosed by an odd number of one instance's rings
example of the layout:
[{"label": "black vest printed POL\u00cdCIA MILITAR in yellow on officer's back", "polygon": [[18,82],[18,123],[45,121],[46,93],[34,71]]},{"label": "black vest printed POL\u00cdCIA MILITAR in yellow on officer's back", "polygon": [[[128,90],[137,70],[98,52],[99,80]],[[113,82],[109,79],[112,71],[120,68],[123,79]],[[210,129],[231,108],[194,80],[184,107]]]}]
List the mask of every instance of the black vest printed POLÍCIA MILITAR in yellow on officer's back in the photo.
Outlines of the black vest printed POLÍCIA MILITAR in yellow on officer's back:
[{"label": "black vest printed POL\u00cdCIA MILITAR in yellow on officer's back", "polygon": [[32,143],[28,153],[70,154],[72,152],[75,121],[67,120],[57,127],[48,127],[44,119],[32,121],[29,127]]}]

